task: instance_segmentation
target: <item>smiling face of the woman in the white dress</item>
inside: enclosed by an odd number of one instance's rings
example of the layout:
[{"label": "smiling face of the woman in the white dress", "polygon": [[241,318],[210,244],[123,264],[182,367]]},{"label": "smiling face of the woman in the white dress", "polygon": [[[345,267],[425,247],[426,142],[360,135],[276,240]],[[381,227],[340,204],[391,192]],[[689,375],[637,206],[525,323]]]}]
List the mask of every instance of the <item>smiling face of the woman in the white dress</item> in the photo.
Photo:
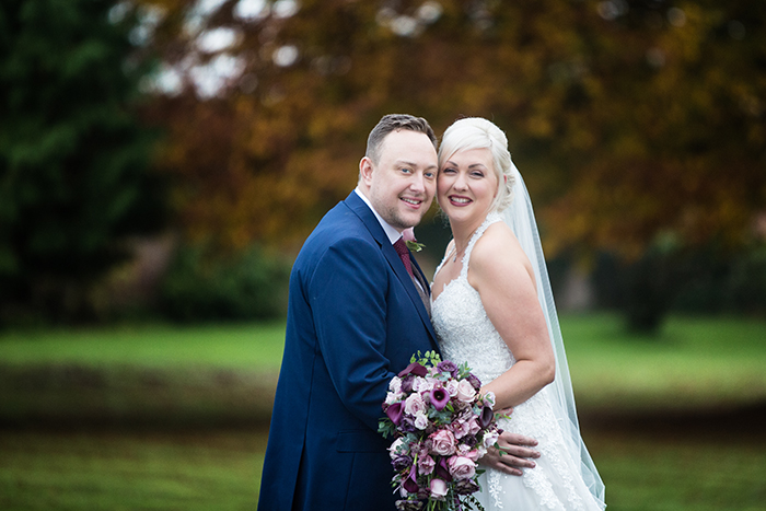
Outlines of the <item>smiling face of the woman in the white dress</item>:
[{"label": "smiling face of the woman in the white dress", "polygon": [[437,200],[452,221],[483,221],[497,191],[489,149],[457,151],[439,169]]}]

